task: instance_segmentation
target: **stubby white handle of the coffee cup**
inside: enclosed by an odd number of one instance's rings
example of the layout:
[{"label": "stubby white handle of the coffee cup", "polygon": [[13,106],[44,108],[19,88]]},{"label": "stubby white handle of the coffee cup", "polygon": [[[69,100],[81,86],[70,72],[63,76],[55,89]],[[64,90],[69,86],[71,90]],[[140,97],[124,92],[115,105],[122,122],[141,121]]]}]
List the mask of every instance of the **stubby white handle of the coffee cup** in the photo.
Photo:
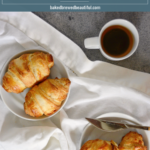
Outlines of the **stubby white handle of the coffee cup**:
[{"label": "stubby white handle of the coffee cup", "polygon": [[99,37],[91,37],[84,40],[84,46],[87,49],[99,49]]}]

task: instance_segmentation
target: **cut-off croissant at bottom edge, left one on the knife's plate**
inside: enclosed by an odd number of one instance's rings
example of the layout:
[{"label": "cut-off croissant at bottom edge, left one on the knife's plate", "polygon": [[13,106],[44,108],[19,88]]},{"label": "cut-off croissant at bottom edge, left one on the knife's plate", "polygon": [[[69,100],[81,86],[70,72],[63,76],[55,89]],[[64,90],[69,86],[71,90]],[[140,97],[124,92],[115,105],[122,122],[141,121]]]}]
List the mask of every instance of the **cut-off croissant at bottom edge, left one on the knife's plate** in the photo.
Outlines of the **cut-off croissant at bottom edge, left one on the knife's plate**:
[{"label": "cut-off croissant at bottom edge, left one on the knife's plate", "polygon": [[118,150],[118,145],[114,141],[96,139],[84,143],[80,150]]}]

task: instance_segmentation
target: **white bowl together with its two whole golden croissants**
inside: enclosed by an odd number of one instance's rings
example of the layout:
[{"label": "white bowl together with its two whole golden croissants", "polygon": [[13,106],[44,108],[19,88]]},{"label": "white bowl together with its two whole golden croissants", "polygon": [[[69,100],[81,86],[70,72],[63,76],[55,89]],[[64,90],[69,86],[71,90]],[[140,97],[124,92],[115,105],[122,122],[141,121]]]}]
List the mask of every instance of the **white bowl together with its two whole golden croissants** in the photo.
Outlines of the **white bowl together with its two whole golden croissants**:
[{"label": "white bowl together with its two whole golden croissants", "polygon": [[1,70],[1,97],[9,110],[26,120],[57,114],[67,102],[71,81],[63,63],[45,50],[13,55]]}]

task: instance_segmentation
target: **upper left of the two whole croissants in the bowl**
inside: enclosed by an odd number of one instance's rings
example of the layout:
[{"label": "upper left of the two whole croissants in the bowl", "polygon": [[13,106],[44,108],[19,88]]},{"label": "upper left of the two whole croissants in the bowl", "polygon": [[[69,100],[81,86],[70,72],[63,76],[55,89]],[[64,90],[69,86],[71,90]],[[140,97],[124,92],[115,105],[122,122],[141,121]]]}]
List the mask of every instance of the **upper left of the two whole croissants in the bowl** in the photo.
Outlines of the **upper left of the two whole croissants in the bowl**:
[{"label": "upper left of the two whole croissants in the bowl", "polygon": [[7,92],[20,93],[46,79],[53,65],[51,54],[43,52],[23,54],[9,63],[2,86]]}]

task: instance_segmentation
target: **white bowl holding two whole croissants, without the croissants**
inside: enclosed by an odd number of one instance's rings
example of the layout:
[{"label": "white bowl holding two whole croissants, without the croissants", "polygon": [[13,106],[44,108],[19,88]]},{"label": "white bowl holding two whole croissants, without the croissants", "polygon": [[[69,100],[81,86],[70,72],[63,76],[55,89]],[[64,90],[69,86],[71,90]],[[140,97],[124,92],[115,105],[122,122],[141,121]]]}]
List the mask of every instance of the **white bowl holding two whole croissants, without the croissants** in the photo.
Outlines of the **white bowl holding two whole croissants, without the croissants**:
[{"label": "white bowl holding two whole croissants, without the croissants", "polygon": [[[1,75],[0,75],[0,81],[1,81],[1,83],[0,83],[0,94],[1,94],[1,97],[4,101],[4,103],[8,107],[8,109],[13,114],[17,115],[20,118],[23,118],[26,120],[32,120],[32,121],[44,120],[44,119],[53,117],[55,114],[57,114],[64,107],[64,105],[66,104],[66,102],[68,100],[69,93],[70,93],[70,89],[69,89],[67,98],[63,101],[62,106],[60,107],[60,109],[57,112],[55,112],[54,114],[52,114],[50,116],[44,115],[44,116],[39,117],[39,118],[34,118],[34,117],[31,117],[25,113],[24,106],[23,106],[23,104],[25,102],[25,96],[26,96],[27,92],[30,90],[30,88],[25,89],[22,93],[19,93],[19,94],[8,93],[4,90],[4,88],[2,87],[2,79],[8,70],[9,62],[12,59],[18,58],[22,54],[33,53],[36,51],[42,51],[42,52],[48,53],[47,51],[44,51],[44,50],[25,50],[25,51],[22,51],[20,53],[17,53],[6,61],[6,63],[2,67]],[[61,61],[58,58],[56,58],[53,54],[52,54],[52,56],[54,59],[54,66],[51,68],[51,73],[50,73],[49,78],[53,78],[53,79],[56,77],[58,77],[58,78],[62,78],[62,77],[69,78],[68,72],[65,69],[64,65],[61,63]]]}]

